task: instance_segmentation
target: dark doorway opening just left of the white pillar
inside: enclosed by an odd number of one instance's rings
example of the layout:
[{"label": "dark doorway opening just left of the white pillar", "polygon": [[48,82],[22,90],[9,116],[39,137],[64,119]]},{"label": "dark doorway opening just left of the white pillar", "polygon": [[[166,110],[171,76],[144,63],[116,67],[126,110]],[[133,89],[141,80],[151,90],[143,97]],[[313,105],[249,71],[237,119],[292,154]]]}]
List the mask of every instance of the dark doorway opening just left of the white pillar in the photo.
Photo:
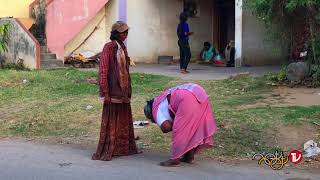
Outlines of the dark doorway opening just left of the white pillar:
[{"label": "dark doorway opening just left of the white pillar", "polygon": [[235,0],[214,0],[213,40],[222,53],[235,40]]}]

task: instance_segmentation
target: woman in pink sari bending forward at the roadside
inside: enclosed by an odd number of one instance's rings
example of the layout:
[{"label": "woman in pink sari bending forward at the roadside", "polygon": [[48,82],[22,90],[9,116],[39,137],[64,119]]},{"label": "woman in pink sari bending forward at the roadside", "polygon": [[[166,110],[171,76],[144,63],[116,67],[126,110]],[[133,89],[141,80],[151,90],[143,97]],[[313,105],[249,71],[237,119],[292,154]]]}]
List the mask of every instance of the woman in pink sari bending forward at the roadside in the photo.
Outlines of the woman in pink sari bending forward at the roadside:
[{"label": "woman in pink sari bending forward at the roadside", "polygon": [[212,147],[216,122],[209,97],[197,84],[183,84],[162,92],[147,102],[145,116],[163,133],[172,131],[171,158],[160,163],[176,166],[191,163],[194,154]]}]

